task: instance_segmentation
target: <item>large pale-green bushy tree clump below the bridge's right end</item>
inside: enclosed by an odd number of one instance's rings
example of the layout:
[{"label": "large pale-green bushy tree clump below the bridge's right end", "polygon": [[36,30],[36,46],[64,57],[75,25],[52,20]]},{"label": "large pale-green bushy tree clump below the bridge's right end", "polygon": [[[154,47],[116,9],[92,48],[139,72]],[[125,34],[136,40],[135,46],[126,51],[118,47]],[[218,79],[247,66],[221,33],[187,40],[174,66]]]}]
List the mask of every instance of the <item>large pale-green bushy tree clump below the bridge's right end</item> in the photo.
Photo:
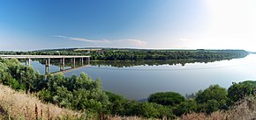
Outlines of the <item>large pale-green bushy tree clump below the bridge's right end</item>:
[{"label": "large pale-green bushy tree clump below the bridge's right end", "polygon": [[102,82],[93,81],[87,74],[79,77],[50,75],[47,87],[39,92],[40,98],[70,109],[101,111],[108,103],[108,96],[102,91]]}]

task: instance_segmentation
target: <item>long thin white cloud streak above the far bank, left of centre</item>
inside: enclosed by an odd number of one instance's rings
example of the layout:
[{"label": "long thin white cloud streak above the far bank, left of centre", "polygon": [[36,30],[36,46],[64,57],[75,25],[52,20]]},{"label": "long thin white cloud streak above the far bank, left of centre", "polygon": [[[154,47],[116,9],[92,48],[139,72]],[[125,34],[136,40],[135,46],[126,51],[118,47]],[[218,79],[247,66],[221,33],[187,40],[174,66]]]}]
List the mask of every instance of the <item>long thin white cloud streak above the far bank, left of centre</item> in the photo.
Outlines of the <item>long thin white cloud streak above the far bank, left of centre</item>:
[{"label": "long thin white cloud streak above the far bank, left of centre", "polygon": [[84,38],[76,38],[76,37],[68,37],[68,36],[62,36],[62,35],[55,35],[56,38],[62,38],[62,39],[70,39],[74,41],[83,41],[88,43],[97,43],[97,44],[104,44],[109,46],[147,46],[147,42],[140,40],[140,39],[116,39],[116,40],[109,40],[109,39],[84,39]]}]

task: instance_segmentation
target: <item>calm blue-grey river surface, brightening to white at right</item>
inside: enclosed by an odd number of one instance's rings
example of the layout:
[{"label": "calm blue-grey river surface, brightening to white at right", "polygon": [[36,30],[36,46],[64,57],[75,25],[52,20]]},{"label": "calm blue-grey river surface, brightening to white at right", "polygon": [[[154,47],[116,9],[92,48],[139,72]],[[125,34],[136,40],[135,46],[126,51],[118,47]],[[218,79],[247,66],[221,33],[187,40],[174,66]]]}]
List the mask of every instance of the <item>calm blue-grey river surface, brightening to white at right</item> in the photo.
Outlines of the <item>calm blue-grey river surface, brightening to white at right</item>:
[{"label": "calm blue-grey river surface, brightening to white at right", "polygon": [[[44,66],[38,61],[33,61],[32,66],[40,73],[44,73]],[[51,72],[58,70],[57,66],[50,67]],[[104,90],[139,100],[147,98],[152,93],[163,91],[175,91],[182,95],[191,94],[213,84],[229,88],[232,82],[256,80],[255,71],[256,55],[251,54],[242,59],[186,63],[184,66],[162,64],[113,67],[95,64],[81,67],[65,75],[79,75],[85,72],[93,79],[100,78]]]}]

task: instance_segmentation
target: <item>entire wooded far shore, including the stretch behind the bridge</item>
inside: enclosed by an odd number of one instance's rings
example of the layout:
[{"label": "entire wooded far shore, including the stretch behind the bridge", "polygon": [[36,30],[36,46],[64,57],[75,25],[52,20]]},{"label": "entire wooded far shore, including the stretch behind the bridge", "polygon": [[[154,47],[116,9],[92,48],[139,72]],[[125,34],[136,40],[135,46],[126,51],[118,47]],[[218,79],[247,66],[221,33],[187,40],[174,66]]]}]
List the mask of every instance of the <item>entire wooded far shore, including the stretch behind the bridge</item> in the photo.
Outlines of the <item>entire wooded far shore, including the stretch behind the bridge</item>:
[{"label": "entire wooded far shore, including the stretch behind the bridge", "polygon": [[53,49],[31,52],[0,52],[0,54],[91,55],[92,60],[230,60],[245,57],[244,50],[143,50],[143,49]]}]

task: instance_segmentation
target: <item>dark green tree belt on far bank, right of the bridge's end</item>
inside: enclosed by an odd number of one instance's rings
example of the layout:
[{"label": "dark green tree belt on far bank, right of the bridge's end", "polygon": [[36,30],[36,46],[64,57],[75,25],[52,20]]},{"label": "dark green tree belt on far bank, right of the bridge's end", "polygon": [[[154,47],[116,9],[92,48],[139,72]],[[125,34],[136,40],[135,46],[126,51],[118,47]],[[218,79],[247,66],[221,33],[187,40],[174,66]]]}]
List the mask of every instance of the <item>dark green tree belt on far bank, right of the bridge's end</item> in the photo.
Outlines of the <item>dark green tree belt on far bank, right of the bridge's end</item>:
[{"label": "dark green tree belt on far bank, right of the bridge's end", "polygon": [[91,53],[94,60],[191,60],[245,57],[242,50],[105,50]]}]

